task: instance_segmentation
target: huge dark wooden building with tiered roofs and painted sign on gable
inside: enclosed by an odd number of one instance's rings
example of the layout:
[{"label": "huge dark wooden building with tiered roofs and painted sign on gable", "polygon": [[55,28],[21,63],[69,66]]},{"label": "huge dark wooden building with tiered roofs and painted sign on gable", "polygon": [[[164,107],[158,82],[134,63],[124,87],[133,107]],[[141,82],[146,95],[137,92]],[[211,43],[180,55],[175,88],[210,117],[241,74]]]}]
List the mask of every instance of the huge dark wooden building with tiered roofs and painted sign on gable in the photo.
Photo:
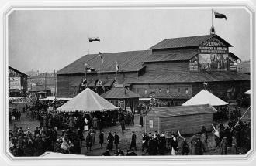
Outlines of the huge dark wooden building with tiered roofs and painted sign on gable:
[{"label": "huge dark wooden building with tiered roofs and painted sign on gable", "polygon": [[[97,54],[85,55],[57,73],[57,96],[74,97],[86,77],[88,86],[99,93],[103,93],[101,86],[107,91],[117,80],[141,97],[154,97],[172,106],[199,93],[203,83],[217,97],[234,100],[250,89],[250,76],[237,73],[240,59],[229,47],[212,34],[164,39],[142,51],[102,53],[103,63]],[[85,63],[90,66],[86,72]]]}]

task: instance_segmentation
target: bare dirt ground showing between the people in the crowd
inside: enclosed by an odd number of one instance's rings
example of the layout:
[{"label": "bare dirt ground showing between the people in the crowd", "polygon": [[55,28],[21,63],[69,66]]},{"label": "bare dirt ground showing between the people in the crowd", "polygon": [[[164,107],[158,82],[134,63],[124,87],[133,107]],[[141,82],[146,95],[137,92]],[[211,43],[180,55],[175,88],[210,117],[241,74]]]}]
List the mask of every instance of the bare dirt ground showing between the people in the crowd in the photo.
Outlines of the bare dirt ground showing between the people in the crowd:
[{"label": "bare dirt ground showing between the people in the crowd", "polygon": [[[10,107],[13,107],[12,105]],[[15,106],[14,106],[15,107]],[[17,108],[19,110],[22,110],[23,104],[19,104],[17,106]],[[243,109],[242,113],[244,112]],[[104,144],[103,147],[100,147],[99,144],[99,130],[96,131],[96,141],[95,144],[92,145],[92,151],[87,152],[86,151],[86,147],[85,147],[85,142],[83,142],[83,146],[82,146],[82,154],[88,155],[88,156],[99,156],[102,155],[102,153],[104,151],[106,151],[106,138],[108,136],[108,132],[110,131],[112,134],[113,132],[116,132],[119,137],[120,137],[120,141],[119,141],[119,147],[123,150],[123,152],[126,154],[127,149],[129,149],[130,147],[130,141],[131,141],[131,136],[132,136],[132,131],[135,132],[135,134],[137,135],[137,155],[144,155],[141,152],[141,145],[142,145],[142,134],[144,133],[144,127],[140,127],[139,125],[139,120],[140,120],[140,116],[139,115],[135,115],[135,120],[134,120],[134,126],[126,126],[126,130],[124,132],[124,134],[122,134],[122,130],[119,124],[117,124],[116,126],[113,127],[109,127],[109,128],[104,128]],[[250,111],[248,111],[248,113],[246,114],[246,116],[244,117],[244,120],[250,120]],[[26,117],[26,113],[22,113],[22,117],[20,121],[12,121],[9,124],[9,129],[12,130],[13,128],[13,124],[17,124],[17,127],[22,127],[23,130],[26,130],[27,127],[30,128],[30,130],[36,130],[36,127],[40,126],[40,122],[33,120],[30,121],[29,118]],[[59,133],[61,134],[61,130],[59,130]],[[84,133],[84,135],[86,136],[86,134]],[[215,141],[214,141],[214,137],[213,137],[213,133],[209,133],[209,139],[208,139],[208,151],[206,151],[204,154],[205,155],[220,155],[220,148],[216,148],[215,147]],[[187,142],[190,143],[191,141],[191,137],[186,137],[187,138]],[[181,144],[181,138],[178,138],[178,145]],[[189,144],[190,146],[190,144]],[[180,146],[179,146],[180,147]],[[114,151],[110,152],[111,155],[114,154]],[[166,151],[165,153],[166,155],[170,155],[171,151]],[[181,151],[178,151],[178,155],[182,155]]]}]

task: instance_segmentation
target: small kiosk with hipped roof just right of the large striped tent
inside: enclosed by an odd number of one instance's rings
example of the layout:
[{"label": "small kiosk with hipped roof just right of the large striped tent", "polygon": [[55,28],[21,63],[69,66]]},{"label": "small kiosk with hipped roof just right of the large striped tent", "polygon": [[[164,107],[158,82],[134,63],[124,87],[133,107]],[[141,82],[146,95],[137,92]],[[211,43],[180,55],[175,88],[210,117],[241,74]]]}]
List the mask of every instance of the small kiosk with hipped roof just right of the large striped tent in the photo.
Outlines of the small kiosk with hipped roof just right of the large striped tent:
[{"label": "small kiosk with hipped roof just right of the large striped tent", "polygon": [[116,107],[123,108],[123,110],[126,109],[125,107],[130,107],[134,113],[137,110],[140,95],[125,87],[112,87],[111,90],[103,93],[101,97],[109,100]]}]

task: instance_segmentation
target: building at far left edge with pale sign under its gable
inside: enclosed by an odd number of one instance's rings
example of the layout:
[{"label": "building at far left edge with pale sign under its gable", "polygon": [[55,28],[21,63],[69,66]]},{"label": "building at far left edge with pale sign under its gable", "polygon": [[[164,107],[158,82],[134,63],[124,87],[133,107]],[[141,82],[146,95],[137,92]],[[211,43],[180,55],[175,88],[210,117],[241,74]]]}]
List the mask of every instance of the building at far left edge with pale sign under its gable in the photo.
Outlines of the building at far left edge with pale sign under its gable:
[{"label": "building at far left edge with pale sign under its gable", "polygon": [[28,75],[9,66],[9,97],[22,97],[26,94]]}]

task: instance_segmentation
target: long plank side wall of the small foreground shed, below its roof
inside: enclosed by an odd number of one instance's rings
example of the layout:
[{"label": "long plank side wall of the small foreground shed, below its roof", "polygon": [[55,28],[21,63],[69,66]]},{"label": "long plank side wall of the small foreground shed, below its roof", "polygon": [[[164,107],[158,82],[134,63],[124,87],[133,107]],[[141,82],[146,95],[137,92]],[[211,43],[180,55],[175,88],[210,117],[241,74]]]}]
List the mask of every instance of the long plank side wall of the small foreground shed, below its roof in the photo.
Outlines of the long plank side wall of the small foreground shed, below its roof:
[{"label": "long plank side wall of the small foreground shed, below its roof", "polygon": [[177,130],[179,130],[181,134],[199,133],[202,126],[205,126],[206,130],[210,131],[213,130],[213,113],[179,117],[161,117],[160,124],[161,133],[165,133],[166,131],[176,132]]}]

